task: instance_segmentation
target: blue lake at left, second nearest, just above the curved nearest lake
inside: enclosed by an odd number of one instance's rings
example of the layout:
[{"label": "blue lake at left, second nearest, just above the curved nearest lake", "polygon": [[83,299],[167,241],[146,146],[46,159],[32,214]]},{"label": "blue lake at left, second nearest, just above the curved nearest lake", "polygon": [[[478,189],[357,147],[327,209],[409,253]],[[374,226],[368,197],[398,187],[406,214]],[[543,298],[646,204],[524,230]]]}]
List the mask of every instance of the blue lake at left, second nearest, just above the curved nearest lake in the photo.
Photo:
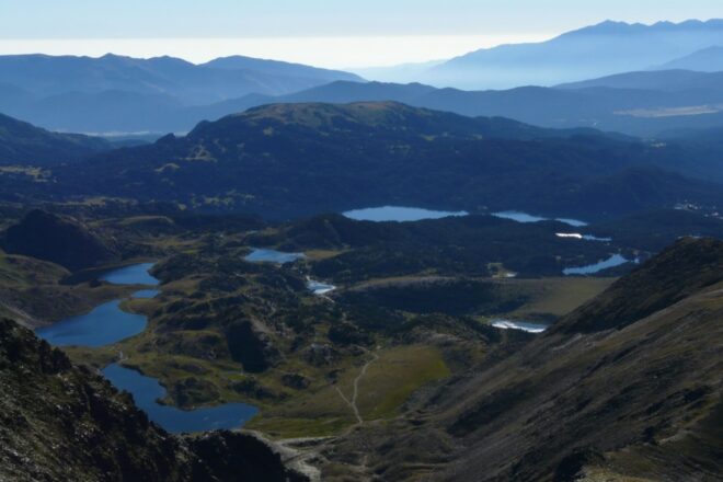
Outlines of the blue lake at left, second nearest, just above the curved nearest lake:
[{"label": "blue lake at left, second nearest, just above the curved nearest lake", "polygon": [[123,311],[120,300],[96,307],[88,314],[67,318],[35,333],[56,346],[104,346],[137,335],[146,329],[146,317]]}]

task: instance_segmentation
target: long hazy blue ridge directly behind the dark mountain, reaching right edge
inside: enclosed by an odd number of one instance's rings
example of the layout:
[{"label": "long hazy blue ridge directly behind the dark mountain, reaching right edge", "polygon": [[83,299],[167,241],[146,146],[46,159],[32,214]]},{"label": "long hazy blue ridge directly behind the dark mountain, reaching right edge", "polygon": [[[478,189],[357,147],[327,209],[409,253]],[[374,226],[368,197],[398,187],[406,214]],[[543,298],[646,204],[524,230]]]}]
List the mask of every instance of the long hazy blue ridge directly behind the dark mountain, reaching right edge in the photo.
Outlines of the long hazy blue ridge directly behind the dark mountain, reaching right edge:
[{"label": "long hazy blue ridge directly behind the dark mountain, reaching right edge", "polygon": [[[420,83],[333,82],[282,95],[249,95],[188,115],[218,118],[271,103],[394,101],[468,116],[502,116],[552,127],[593,127],[632,136],[723,126],[723,73],[684,70],[611,76],[556,88],[435,89]],[[176,117],[180,119],[181,117]]]}]

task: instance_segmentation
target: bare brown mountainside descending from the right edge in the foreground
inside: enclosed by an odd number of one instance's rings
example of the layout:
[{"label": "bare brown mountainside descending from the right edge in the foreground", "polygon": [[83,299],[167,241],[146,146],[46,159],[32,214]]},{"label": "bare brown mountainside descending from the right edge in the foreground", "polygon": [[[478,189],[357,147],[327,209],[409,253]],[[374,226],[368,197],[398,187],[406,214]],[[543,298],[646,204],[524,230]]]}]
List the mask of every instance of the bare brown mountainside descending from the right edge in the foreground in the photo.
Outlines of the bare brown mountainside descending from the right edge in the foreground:
[{"label": "bare brown mountainside descending from the right edge in the foreground", "polygon": [[334,450],[383,480],[720,481],[721,320],[723,242],[680,240]]}]

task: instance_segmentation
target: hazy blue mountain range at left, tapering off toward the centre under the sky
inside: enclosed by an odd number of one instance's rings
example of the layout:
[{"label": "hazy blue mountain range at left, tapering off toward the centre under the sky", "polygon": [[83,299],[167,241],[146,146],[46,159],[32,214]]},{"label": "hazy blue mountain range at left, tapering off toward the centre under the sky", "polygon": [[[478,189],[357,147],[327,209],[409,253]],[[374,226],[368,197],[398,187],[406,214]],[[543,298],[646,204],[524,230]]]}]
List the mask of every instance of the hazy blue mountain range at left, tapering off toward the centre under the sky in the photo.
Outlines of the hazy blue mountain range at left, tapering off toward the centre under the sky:
[{"label": "hazy blue mountain range at left, tapering off toward the centre under the sky", "polygon": [[194,105],[250,93],[280,95],[336,80],[363,81],[353,73],[240,56],[200,66],[110,54],[0,56],[0,112],[55,130],[154,130]]}]

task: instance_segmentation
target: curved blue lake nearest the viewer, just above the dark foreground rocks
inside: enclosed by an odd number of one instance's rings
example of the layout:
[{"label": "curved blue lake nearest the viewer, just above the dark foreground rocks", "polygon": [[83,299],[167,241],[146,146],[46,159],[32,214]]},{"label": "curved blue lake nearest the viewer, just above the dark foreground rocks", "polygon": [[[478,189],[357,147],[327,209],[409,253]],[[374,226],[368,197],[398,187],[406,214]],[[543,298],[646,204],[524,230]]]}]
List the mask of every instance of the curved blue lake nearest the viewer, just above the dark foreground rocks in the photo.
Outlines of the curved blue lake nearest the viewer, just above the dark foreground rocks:
[{"label": "curved blue lake nearest the viewer, just above the dark foreground rocks", "polygon": [[227,403],[187,411],[161,405],[158,400],[165,397],[165,389],[157,379],[117,364],[105,367],[103,375],[117,389],[133,393],[136,405],[146,412],[151,421],[172,433],[240,428],[259,413],[259,409],[245,403]]}]

